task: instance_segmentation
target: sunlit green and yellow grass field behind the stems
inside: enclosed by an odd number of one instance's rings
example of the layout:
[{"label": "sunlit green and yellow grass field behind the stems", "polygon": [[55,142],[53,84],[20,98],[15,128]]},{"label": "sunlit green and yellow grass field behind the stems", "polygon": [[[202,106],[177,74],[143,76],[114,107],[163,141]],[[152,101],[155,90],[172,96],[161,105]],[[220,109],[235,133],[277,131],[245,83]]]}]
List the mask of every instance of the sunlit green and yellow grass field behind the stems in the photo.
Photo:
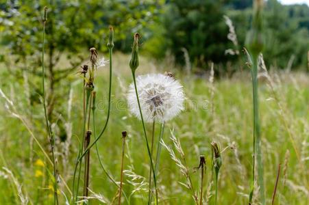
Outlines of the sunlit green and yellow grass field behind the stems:
[{"label": "sunlit green and yellow grass field behind the stems", "polygon": [[[103,165],[118,182],[121,172],[121,131],[127,131],[123,189],[129,202],[123,197],[123,204],[147,204],[149,158],[143,128],[140,121],[127,110],[126,102],[127,87],[132,83],[129,56],[117,53],[113,61],[111,117],[106,133],[97,143],[99,155]],[[136,72],[145,74],[165,71],[175,73],[175,78],[184,86],[186,101],[185,111],[166,123],[164,142],[180,158],[170,139],[171,133],[180,139],[193,188],[197,193],[201,186],[200,172],[196,172],[194,167],[198,167],[201,154],[206,156],[204,202],[213,204],[210,142],[217,141],[221,150],[226,148],[221,153],[218,204],[247,204],[253,152],[252,85],[249,70],[237,72],[232,79],[223,77],[210,83],[208,75],[197,77],[195,74],[184,74],[166,61],[158,63],[142,58]],[[4,69],[1,75],[6,76]],[[281,164],[275,204],[305,205],[309,203],[309,75],[303,72],[277,71],[269,75],[272,86],[269,86],[267,78],[262,77],[259,87],[267,204],[271,204],[277,169]],[[77,138],[82,136],[82,79],[75,72],[68,79],[72,81],[71,96],[68,92],[61,101],[64,110],[68,110],[66,107],[69,104],[71,111],[59,115],[58,121],[66,124],[66,136],[71,136],[71,139],[68,137],[65,142],[60,142],[59,128],[57,124],[53,126],[58,171],[71,189],[78,151]],[[27,104],[27,96],[32,92],[27,81],[1,77],[0,85],[5,96],[13,103],[9,105],[4,98],[0,99],[0,204],[23,204],[21,200],[26,198],[29,204],[51,204],[52,167],[33,138],[36,137],[49,154],[42,104]],[[107,66],[99,70],[95,87],[98,133],[106,120]],[[70,88],[66,87],[66,90]],[[147,124],[149,136],[151,127],[152,124]],[[156,124],[155,148],[158,144],[159,127],[160,124]],[[90,195],[95,196],[90,204],[103,203],[97,198],[113,204],[117,187],[101,169],[95,147],[91,150],[90,173],[90,189],[93,191]],[[195,204],[190,190],[180,183],[185,183],[186,178],[164,147],[157,177],[160,204]],[[60,204],[65,203],[64,195],[70,200],[71,194],[62,180],[59,192]],[[257,202],[255,196],[254,202]]]}]

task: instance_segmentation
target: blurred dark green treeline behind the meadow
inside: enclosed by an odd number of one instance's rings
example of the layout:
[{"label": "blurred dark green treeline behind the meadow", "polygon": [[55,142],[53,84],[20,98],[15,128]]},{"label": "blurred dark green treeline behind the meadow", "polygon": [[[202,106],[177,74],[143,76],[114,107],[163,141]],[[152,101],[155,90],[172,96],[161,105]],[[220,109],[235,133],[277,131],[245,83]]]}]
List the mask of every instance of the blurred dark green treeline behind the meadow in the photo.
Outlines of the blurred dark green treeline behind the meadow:
[{"label": "blurred dark green treeline behind the meadow", "polygon": [[[209,61],[237,64],[242,59],[251,22],[250,0],[88,0],[88,1],[0,1],[1,45],[22,65],[40,66],[42,8],[49,6],[47,54],[49,70],[65,55],[69,70],[86,59],[90,46],[106,49],[106,29],[114,25],[116,50],[129,52],[132,34],[142,35],[143,51],[156,59],[168,55],[183,65],[189,57],[194,68]],[[228,16],[235,27],[238,44],[227,39]],[[309,48],[308,5],[282,5],[269,0],[264,8],[264,59],[276,68],[306,70]],[[227,49],[238,51],[234,55]],[[3,50],[3,49],[2,49]],[[240,57],[241,56],[241,57]],[[187,58],[188,59],[188,58]],[[68,71],[68,72],[69,72]]]}]

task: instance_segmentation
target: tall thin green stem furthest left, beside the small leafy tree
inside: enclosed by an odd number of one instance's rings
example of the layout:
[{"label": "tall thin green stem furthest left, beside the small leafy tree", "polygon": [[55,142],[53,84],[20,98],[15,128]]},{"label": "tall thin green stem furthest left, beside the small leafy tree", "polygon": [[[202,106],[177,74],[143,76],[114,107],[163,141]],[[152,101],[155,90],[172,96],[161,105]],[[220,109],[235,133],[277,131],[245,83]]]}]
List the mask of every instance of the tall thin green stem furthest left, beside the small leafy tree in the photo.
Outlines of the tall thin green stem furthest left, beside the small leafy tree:
[{"label": "tall thin green stem furthest left, beside the small leafy tree", "polygon": [[[47,15],[47,8],[45,7],[45,17]],[[44,107],[44,115],[45,115],[45,122],[47,126],[47,133],[49,135],[49,142],[51,146],[51,161],[53,163],[53,204],[58,204],[58,179],[57,179],[57,169],[55,167],[55,152],[54,152],[54,146],[55,146],[55,138],[53,137],[53,134],[51,133],[51,127],[49,125],[49,120],[47,117],[47,109],[46,109],[46,94],[45,94],[45,66],[44,66],[44,53],[45,53],[45,27],[46,27],[46,21],[47,19],[44,19],[43,22],[43,33],[42,33],[42,39],[43,39],[43,45],[42,45],[42,90],[43,90],[43,107]]]}]

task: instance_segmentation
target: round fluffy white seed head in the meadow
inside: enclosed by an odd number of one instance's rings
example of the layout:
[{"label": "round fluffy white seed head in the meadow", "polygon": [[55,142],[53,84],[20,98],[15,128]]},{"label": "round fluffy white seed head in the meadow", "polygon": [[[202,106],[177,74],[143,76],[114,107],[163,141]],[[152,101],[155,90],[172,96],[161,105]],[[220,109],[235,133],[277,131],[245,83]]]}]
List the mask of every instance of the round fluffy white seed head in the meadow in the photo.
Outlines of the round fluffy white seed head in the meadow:
[{"label": "round fluffy white seed head in the meadow", "polygon": [[[138,98],[145,122],[166,122],[184,109],[182,85],[164,74],[146,74],[136,78]],[[129,86],[130,111],[140,119],[134,83]]]}]

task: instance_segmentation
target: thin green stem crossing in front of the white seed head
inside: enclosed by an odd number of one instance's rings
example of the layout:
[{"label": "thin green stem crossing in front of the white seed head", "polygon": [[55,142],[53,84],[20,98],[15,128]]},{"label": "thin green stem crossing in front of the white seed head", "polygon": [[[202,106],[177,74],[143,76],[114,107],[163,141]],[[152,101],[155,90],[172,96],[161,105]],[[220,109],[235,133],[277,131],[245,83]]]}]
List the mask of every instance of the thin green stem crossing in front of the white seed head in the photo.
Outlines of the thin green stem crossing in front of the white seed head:
[{"label": "thin green stem crossing in front of the white seed head", "polygon": [[[158,204],[158,189],[157,189],[156,171],[155,171],[154,166],[153,166],[153,161],[152,161],[151,152],[150,152],[150,148],[149,148],[149,143],[148,143],[148,139],[147,139],[147,132],[146,132],[146,128],[145,128],[143,113],[142,113],[142,109],[140,108],[140,100],[138,98],[138,91],[137,91],[137,86],[136,86],[135,72],[133,70],[132,70],[132,77],[133,77],[133,82],[134,82],[136,99],[137,99],[137,102],[138,102],[138,109],[140,110],[140,119],[141,119],[142,124],[143,124],[143,131],[144,131],[144,136],[145,136],[145,141],[146,141],[146,146],[147,146],[147,152],[148,152],[148,156],[149,156],[150,163],[151,163],[151,169],[152,169],[152,174],[153,174],[153,183],[154,183],[155,189],[156,189],[156,204]],[[151,202],[148,201],[148,204],[150,204],[150,203]]]}]

